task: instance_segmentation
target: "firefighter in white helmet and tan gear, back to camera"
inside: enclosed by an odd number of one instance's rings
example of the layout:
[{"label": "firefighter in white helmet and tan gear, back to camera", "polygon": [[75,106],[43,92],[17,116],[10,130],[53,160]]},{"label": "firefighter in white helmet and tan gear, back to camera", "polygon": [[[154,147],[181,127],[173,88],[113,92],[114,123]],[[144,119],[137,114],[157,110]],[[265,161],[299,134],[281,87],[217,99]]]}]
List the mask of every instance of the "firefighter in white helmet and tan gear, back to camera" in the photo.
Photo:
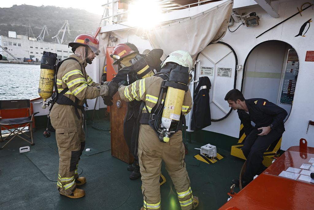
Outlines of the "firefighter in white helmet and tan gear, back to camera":
[{"label": "firefighter in white helmet and tan gear, back to camera", "polygon": [[[159,177],[162,160],[175,185],[181,209],[192,209],[198,206],[198,198],[192,195],[184,162],[185,149],[181,131],[184,116],[192,106],[191,93],[187,87],[188,71],[192,69],[192,58],[188,52],[177,50],[167,57],[161,67],[160,73],[155,76],[137,80],[128,86],[120,83],[118,89],[121,99],[127,102],[137,100],[145,103],[138,138],[144,199],[141,210],[161,209]],[[185,82],[176,82],[176,79],[181,77],[184,77]],[[177,88],[178,91],[173,91],[171,94],[169,88]],[[181,94],[182,97],[179,97],[178,93],[181,90],[184,91]],[[166,96],[166,93],[169,95]],[[166,107],[169,98],[174,103],[181,101],[181,104],[178,103],[180,107]],[[179,109],[179,115],[171,114],[172,120],[168,121],[171,123],[170,127],[166,126],[167,119],[166,121],[162,119],[165,118],[162,115],[163,110],[168,108]]]}]

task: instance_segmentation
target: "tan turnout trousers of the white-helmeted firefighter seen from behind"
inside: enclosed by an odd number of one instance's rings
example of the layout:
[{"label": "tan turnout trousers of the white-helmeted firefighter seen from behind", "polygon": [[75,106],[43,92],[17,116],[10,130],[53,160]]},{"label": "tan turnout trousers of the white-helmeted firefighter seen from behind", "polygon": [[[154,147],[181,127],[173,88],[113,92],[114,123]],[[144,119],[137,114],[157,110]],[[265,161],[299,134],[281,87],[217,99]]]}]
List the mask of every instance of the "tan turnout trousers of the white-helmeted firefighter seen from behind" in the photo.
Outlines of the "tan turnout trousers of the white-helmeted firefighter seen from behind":
[{"label": "tan turnout trousers of the white-helmeted firefighter seen from behind", "polygon": [[142,174],[144,208],[160,209],[160,170],[165,162],[171,180],[176,188],[181,209],[193,208],[193,195],[190,179],[185,167],[185,150],[182,131],[173,134],[167,143],[160,142],[149,125],[141,125],[138,139],[138,157]]}]

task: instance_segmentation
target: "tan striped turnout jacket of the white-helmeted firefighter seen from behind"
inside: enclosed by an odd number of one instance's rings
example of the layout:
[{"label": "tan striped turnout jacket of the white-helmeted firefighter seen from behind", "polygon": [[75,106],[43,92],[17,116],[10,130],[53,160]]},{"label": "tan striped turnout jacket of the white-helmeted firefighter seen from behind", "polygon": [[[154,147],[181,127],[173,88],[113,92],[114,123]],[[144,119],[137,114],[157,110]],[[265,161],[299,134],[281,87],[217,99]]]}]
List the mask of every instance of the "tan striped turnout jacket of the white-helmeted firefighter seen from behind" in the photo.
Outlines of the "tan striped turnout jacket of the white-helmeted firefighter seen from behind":
[{"label": "tan striped turnout jacket of the white-helmeted firefighter seen from behind", "polygon": [[[161,77],[147,77],[144,79],[137,80],[128,86],[119,87],[119,95],[122,100],[130,102],[133,100],[144,101],[147,110],[150,111],[157,104],[160,87],[163,79]],[[163,95],[163,100],[165,99],[165,94]],[[146,113],[146,108],[143,108],[142,113]],[[192,108],[192,97],[190,90],[185,93],[183,105],[182,105],[182,115],[186,115]]]}]

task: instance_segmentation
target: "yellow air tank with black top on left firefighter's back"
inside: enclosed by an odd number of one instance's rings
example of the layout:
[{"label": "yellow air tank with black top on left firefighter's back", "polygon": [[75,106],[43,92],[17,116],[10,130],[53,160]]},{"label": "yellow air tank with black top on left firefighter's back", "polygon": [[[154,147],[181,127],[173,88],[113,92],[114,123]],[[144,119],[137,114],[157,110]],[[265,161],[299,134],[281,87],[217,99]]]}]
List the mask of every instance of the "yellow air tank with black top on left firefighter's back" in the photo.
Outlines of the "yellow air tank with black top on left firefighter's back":
[{"label": "yellow air tank with black top on left firefighter's back", "polygon": [[57,62],[57,54],[51,52],[43,53],[41,57],[41,73],[39,80],[38,94],[43,99],[41,108],[46,109],[47,99],[53,94],[55,66]]}]

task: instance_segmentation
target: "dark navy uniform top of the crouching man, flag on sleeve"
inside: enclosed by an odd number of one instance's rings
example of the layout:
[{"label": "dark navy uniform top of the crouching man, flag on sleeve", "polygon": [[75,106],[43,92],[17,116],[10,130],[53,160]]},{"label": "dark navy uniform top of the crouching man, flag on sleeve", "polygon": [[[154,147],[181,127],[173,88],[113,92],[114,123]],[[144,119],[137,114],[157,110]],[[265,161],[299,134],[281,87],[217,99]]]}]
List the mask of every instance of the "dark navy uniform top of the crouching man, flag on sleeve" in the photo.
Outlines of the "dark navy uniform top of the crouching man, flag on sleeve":
[{"label": "dark navy uniform top of the crouching man, flag on sleeve", "polygon": [[237,112],[246,135],[253,130],[251,121],[256,124],[255,128],[273,125],[275,130],[284,132],[284,118],[288,113],[283,108],[260,98],[246,99],[245,103],[248,113],[241,109],[238,109]]}]

